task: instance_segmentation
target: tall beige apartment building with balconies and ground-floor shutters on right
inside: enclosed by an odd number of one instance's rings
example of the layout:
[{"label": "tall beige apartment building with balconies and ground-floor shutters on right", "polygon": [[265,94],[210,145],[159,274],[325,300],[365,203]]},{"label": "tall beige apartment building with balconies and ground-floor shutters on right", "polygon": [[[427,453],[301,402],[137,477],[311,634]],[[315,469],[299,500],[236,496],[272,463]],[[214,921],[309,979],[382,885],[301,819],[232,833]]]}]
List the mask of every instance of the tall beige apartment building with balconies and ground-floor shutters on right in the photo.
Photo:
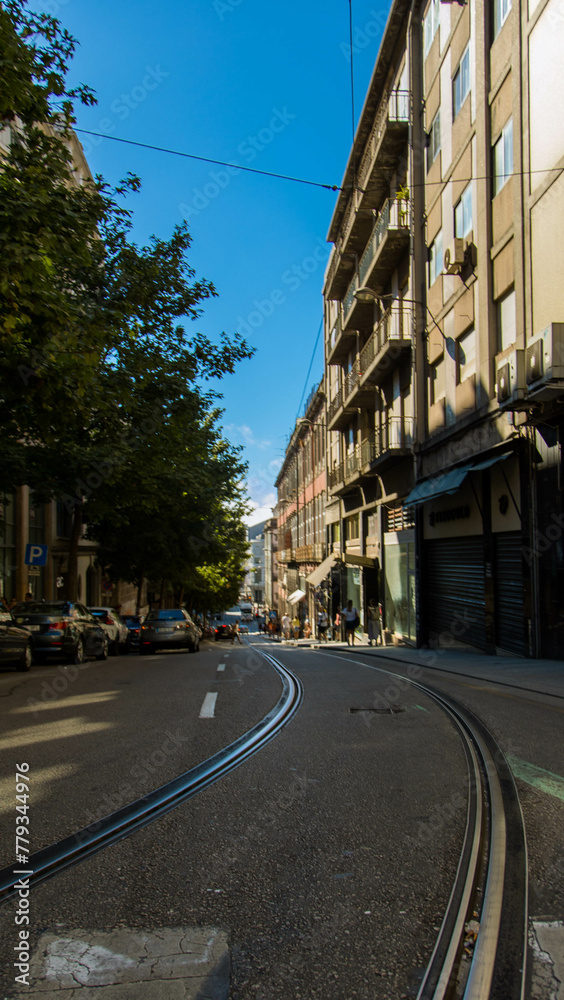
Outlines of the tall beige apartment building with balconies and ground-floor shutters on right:
[{"label": "tall beige apartment building with balconies and ground-floor shutters on right", "polygon": [[419,645],[564,655],[563,43],[558,0],[396,0],[331,223],[332,546]]}]

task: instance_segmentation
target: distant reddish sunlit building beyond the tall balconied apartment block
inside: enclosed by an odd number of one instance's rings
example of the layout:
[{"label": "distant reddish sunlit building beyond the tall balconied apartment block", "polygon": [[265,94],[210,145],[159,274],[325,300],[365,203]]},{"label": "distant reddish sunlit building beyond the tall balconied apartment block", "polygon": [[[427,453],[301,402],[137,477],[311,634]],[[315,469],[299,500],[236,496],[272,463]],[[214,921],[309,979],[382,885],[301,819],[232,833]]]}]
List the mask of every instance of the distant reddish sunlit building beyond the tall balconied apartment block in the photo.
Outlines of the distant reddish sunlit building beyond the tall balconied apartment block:
[{"label": "distant reddish sunlit building beyond the tall balconied apartment block", "polygon": [[329,566],[325,535],[325,394],[322,386],[309,396],[304,415],[286,448],[276,479],[278,503],[278,613],[314,624],[327,606]]}]

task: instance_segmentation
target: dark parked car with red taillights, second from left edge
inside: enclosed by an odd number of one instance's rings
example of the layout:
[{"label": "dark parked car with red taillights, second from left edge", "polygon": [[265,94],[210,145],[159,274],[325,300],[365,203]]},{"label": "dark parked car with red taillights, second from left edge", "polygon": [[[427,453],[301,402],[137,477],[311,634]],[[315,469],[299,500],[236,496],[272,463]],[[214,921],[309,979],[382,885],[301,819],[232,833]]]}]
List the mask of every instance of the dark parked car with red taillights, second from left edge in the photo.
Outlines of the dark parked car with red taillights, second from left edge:
[{"label": "dark parked car with red taillights, second from left edge", "polygon": [[69,663],[88,656],[108,658],[108,636],[88,608],[72,601],[24,601],[12,608],[16,625],[25,625],[33,639],[37,662],[56,653]]}]

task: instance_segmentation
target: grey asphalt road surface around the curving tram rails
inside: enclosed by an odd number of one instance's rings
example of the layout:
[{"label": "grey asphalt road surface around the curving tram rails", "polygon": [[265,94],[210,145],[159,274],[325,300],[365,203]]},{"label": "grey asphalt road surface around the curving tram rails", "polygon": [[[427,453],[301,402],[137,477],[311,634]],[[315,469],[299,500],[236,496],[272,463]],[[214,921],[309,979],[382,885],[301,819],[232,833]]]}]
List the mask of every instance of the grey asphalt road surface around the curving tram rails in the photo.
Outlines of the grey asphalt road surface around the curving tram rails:
[{"label": "grey asphalt road surface around the curving tram rails", "polygon": [[[252,636],[251,645],[203,643],[194,655],[93,662],[72,678],[55,666],[2,673],[1,863],[12,862],[17,763],[30,766],[37,850],[258,722],[281,690],[261,650],[304,684],[294,720],[195,799],[40,886],[32,936],[46,928],[214,926],[229,936],[231,1000],[415,996],[458,863],[466,764],[443,712],[374,670],[374,658]],[[439,686],[429,671],[431,678]],[[515,757],[564,773],[557,699],[460,679],[440,683]],[[217,694],[214,715],[200,718],[208,693]],[[359,711],[368,708],[384,711]],[[528,784],[520,792],[535,906],[561,918],[563,803]],[[8,905],[3,955],[11,954],[13,936]],[[2,996],[16,995],[12,983],[5,963]]]}]

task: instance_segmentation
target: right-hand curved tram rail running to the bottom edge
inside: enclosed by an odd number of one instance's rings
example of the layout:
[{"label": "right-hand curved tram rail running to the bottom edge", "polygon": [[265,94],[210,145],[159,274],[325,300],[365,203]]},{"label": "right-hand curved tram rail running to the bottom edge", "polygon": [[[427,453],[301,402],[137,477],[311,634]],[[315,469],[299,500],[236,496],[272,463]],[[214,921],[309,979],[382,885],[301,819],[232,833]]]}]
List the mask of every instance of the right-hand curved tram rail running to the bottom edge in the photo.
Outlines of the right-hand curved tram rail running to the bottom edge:
[{"label": "right-hand curved tram rail running to the bottom edge", "polygon": [[[351,662],[336,651],[327,652],[331,658]],[[463,845],[417,1000],[523,1000],[527,845],[519,796],[505,756],[484,723],[455,699],[404,674],[362,665],[402,681],[436,702],[458,730],[468,765]],[[465,943],[471,921],[477,931],[468,957]]]}]

